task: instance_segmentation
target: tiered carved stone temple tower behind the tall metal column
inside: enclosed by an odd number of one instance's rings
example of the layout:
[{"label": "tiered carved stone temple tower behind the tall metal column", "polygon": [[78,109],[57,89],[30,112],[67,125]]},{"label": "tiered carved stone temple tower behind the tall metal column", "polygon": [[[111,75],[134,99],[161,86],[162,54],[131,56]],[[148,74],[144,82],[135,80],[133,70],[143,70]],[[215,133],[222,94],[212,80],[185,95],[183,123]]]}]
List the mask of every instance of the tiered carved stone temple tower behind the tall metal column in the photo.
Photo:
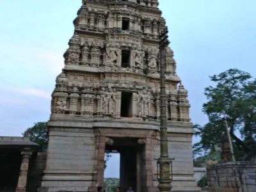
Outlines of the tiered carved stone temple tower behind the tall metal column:
[{"label": "tiered carved stone temple tower behind the tall metal column", "polygon": [[[56,78],[47,163],[40,191],[92,191],[104,185],[104,154],[120,153],[120,187],[158,191],[160,156],[157,0],[87,0]],[[166,114],[172,191],[200,191],[193,178],[188,91],[166,50]]]}]

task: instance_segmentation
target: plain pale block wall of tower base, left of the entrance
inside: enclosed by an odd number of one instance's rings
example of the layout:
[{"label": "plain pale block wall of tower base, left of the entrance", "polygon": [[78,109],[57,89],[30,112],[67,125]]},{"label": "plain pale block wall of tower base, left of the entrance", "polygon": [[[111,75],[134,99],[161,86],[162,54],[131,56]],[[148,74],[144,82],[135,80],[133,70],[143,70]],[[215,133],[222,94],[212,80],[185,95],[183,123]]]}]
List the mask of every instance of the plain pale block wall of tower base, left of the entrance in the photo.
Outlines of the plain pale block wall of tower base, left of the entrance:
[{"label": "plain pale block wall of tower base, left of the entrance", "polygon": [[49,149],[40,191],[49,188],[90,191],[97,164],[93,129],[49,128]]}]

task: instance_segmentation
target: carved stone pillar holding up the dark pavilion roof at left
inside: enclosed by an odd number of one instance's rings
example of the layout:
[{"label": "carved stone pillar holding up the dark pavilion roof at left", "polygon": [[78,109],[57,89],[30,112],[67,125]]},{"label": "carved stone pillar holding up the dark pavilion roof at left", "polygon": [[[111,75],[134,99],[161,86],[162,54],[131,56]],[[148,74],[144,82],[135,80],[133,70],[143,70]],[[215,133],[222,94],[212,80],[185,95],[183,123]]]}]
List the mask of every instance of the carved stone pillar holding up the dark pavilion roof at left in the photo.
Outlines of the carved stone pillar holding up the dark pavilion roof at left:
[{"label": "carved stone pillar holding up the dark pavilion roof at left", "polygon": [[29,149],[24,149],[21,152],[22,155],[22,162],[20,165],[20,175],[19,181],[16,188],[16,192],[25,192],[27,186],[27,179],[28,179],[28,166],[29,166],[29,159],[32,156],[32,152]]}]

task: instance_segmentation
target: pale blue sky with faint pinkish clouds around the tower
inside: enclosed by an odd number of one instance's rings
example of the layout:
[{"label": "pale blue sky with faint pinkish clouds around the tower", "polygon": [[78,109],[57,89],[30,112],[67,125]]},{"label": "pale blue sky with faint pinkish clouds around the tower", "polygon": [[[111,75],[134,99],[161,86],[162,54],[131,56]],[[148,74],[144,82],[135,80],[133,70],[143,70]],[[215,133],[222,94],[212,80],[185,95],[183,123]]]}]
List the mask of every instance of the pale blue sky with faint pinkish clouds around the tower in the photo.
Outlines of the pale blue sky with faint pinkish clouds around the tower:
[{"label": "pale blue sky with faint pinkish clouds around the tower", "polygon": [[[189,91],[191,119],[205,124],[209,76],[239,68],[256,77],[255,0],[159,0],[177,74]],[[81,0],[0,1],[0,136],[20,136],[47,121]],[[106,177],[118,177],[118,156]]]}]

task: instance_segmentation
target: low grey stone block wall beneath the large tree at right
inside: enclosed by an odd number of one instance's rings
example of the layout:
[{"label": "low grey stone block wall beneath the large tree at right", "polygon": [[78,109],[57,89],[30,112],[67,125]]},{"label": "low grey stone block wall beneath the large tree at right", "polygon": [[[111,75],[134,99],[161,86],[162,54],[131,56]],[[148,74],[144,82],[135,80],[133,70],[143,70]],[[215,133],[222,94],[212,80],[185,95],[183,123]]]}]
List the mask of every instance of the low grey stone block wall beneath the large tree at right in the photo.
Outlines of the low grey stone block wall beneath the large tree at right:
[{"label": "low grey stone block wall beneath the large tree at right", "polygon": [[210,192],[255,192],[256,161],[207,166],[207,178]]}]

